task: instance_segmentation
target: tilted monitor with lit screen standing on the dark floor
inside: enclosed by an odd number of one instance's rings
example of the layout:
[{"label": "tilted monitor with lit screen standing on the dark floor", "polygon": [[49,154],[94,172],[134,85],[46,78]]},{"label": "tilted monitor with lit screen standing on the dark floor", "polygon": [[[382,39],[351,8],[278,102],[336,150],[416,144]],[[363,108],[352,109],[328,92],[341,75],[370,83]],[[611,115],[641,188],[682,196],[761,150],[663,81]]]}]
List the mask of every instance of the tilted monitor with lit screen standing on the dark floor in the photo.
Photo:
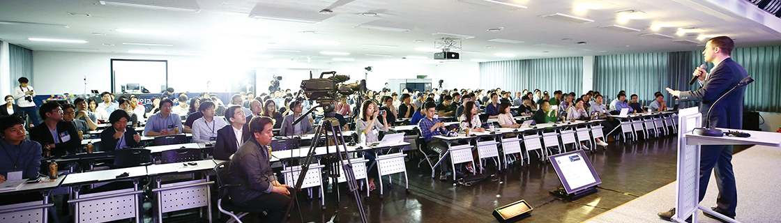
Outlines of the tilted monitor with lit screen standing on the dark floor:
[{"label": "tilted monitor with lit screen standing on the dark floor", "polygon": [[594,166],[591,165],[585,151],[574,150],[555,154],[550,156],[550,159],[558,179],[562,180],[564,186],[564,189],[552,190],[552,195],[577,200],[597,192],[596,187],[602,183],[602,180],[594,171]]}]

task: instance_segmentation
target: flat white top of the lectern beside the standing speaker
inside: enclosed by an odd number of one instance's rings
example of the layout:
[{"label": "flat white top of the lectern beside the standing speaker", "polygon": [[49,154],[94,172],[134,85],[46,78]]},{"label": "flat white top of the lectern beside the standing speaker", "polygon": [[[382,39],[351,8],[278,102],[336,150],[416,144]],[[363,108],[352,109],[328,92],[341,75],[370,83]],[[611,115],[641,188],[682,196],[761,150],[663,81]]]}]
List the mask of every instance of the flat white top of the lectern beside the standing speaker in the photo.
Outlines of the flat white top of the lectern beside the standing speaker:
[{"label": "flat white top of the lectern beside the standing speaker", "polygon": [[686,133],[686,143],[689,145],[762,145],[769,147],[781,147],[781,133],[749,131],[742,129],[722,129],[727,131],[738,131],[751,134],[750,137],[733,136],[700,136],[694,133]]}]

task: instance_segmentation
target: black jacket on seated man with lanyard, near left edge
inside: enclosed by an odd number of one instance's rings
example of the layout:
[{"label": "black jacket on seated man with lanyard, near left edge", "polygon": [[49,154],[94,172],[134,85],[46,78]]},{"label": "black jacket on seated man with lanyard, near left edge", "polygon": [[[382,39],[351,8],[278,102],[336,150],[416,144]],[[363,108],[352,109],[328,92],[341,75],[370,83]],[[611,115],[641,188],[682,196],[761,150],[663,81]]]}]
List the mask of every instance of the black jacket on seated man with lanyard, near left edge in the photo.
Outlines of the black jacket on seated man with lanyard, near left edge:
[{"label": "black jacket on seated man with lanyard, near left edge", "polygon": [[[60,121],[57,122],[57,135],[60,143],[55,143],[52,148],[52,156],[65,155],[66,151],[70,154],[76,154],[81,149],[81,139],[79,139],[79,133],[76,130],[76,125],[71,122]],[[63,137],[68,135],[70,140],[63,141]],[[52,133],[49,132],[48,126],[41,122],[41,125],[30,129],[30,140],[41,143],[41,147],[54,143]]]}]

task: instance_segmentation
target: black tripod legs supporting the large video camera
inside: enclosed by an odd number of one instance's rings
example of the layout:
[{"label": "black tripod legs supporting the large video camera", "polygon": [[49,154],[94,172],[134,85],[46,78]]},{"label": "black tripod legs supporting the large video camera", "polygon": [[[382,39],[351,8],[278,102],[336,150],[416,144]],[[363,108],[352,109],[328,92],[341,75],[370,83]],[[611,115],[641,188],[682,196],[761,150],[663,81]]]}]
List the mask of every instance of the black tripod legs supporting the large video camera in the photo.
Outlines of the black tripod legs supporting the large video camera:
[{"label": "black tripod legs supporting the large video camera", "polygon": [[[298,122],[301,122],[301,120],[306,119],[306,116],[311,113],[312,111],[315,111],[315,108],[323,108],[325,118],[323,120],[320,120],[320,126],[317,126],[317,129],[315,129],[315,137],[312,138],[312,145],[309,146],[309,151],[306,155],[306,158],[304,158],[304,161],[301,163],[301,173],[298,175],[298,179],[296,179],[295,186],[294,186],[294,192],[298,192],[298,190],[301,189],[301,184],[304,182],[306,173],[309,170],[309,165],[312,163],[314,156],[315,156],[315,148],[319,144],[319,142],[322,140],[321,136],[325,134],[325,138],[328,138],[328,132],[323,132],[323,129],[330,130],[332,135],[330,135],[333,139],[333,142],[336,143],[334,147],[336,147],[336,157],[337,158],[331,158],[333,162],[329,162],[326,165],[326,168],[328,169],[329,176],[333,179],[333,183],[336,184],[338,182],[337,178],[339,177],[341,170],[344,170],[345,178],[347,179],[348,186],[350,187],[350,191],[355,196],[355,204],[358,206],[358,213],[361,215],[361,221],[366,223],[366,213],[363,211],[363,202],[361,199],[360,193],[358,193],[358,182],[355,180],[355,174],[352,171],[352,163],[350,159],[347,159],[346,165],[343,158],[343,154],[347,153],[347,144],[344,142],[344,135],[342,135],[341,132],[341,126],[339,126],[339,120],[334,118],[335,111],[333,111],[333,101],[319,101],[320,104],[316,107],[309,109],[305,114],[301,115],[295,122],[293,122],[293,125],[295,125]],[[308,122],[308,121],[307,121]],[[341,149],[340,149],[341,146]],[[328,146],[328,143],[326,142],[326,154],[330,154],[330,149]],[[336,161],[338,159],[338,161]],[[296,194],[293,193],[291,200],[291,204],[287,205],[287,212],[285,213],[285,216],[287,214],[290,214],[291,210],[293,209],[293,203],[296,200]],[[325,199],[325,197],[322,197],[321,199]],[[337,206],[339,204],[339,200],[337,200]],[[300,206],[298,208],[301,208]],[[325,209],[325,207],[323,207]],[[334,213],[334,216],[336,214],[339,214],[339,208],[337,207]]]}]

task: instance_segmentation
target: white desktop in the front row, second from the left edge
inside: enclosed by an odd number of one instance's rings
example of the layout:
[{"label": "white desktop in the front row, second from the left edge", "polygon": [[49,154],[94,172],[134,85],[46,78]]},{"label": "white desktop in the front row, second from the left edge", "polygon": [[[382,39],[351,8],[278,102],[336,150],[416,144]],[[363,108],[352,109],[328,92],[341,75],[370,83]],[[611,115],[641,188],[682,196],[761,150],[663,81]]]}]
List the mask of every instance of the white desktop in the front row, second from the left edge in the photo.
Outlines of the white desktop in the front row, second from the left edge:
[{"label": "white desktop in the front row, second from the left edge", "polygon": [[[116,178],[117,175],[120,175],[124,172],[127,172],[130,175],[123,178]],[[108,181],[115,181],[118,179],[132,179],[132,178],[137,178],[145,175],[147,175],[145,166],[108,169],[108,170],[94,171],[94,172],[72,173],[67,175],[66,179],[62,181],[62,186],[76,186],[76,185],[83,185],[91,182],[108,182]]]}]

